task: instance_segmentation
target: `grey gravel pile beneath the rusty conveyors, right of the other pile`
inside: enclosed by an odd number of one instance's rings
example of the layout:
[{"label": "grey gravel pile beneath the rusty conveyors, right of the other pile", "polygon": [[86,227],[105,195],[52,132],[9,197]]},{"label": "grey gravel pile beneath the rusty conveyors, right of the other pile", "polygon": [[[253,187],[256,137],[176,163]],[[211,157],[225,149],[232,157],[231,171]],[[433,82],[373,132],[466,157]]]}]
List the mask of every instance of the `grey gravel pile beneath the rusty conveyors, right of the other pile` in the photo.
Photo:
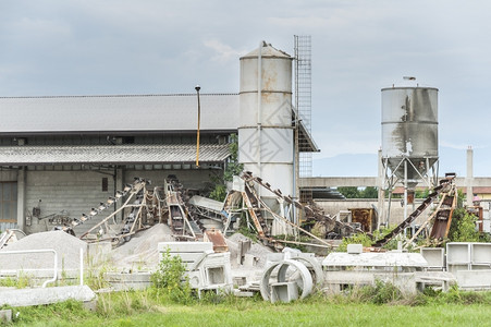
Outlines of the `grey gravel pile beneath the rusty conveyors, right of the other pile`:
[{"label": "grey gravel pile beneath the rusty conveyors, right of the other pile", "polygon": [[173,241],[171,229],[164,223],[158,223],[114,249],[111,253],[112,264],[127,269],[155,268],[159,265],[158,243]]}]

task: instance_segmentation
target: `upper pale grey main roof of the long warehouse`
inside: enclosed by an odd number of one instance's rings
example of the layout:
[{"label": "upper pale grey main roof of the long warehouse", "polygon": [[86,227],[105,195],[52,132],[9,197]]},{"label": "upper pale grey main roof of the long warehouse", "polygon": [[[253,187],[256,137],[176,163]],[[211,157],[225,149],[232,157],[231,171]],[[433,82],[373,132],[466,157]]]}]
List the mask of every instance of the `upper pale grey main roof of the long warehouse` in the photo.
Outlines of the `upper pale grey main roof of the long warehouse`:
[{"label": "upper pale grey main roof of the long warehouse", "polygon": [[[0,97],[1,133],[195,131],[197,96]],[[200,94],[201,130],[236,130],[237,94]]]}]

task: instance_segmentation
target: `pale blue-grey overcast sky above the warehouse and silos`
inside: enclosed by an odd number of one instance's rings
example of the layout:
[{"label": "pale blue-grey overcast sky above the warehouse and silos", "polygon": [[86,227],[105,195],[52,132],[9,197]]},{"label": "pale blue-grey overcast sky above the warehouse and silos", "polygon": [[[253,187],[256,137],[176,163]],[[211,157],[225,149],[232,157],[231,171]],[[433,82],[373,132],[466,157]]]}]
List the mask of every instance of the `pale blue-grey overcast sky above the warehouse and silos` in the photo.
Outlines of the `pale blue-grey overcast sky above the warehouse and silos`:
[{"label": "pale blue-grey overcast sky above the warehouse and silos", "polygon": [[[484,0],[0,0],[0,96],[237,93],[242,55],[311,35],[316,159],[376,155],[380,89],[412,75],[440,89],[440,153],[471,145],[491,175],[490,15]],[[441,167],[465,173],[452,156]]]}]

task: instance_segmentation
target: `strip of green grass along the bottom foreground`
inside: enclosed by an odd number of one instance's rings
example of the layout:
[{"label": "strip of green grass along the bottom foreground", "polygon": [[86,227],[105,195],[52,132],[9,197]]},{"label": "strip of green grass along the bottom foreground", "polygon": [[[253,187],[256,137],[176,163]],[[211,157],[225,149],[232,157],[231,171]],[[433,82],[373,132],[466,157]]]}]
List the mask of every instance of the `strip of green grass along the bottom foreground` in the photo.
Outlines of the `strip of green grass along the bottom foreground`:
[{"label": "strip of green grass along the bottom foreground", "polygon": [[[478,295],[472,295],[478,294]],[[425,301],[373,304],[358,298],[315,295],[271,304],[226,296],[175,304],[155,290],[99,295],[96,312],[69,301],[13,308],[14,326],[491,326],[491,293],[451,291]],[[360,302],[361,301],[361,302]],[[364,302],[365,301],[365,302]],[[401,302],[403,303],[403,302]],[[408,305],[407,303],[412,304]],[[415,305],[421,304],[422,305]],[[466,304],[471,303],[471,304]]]}]

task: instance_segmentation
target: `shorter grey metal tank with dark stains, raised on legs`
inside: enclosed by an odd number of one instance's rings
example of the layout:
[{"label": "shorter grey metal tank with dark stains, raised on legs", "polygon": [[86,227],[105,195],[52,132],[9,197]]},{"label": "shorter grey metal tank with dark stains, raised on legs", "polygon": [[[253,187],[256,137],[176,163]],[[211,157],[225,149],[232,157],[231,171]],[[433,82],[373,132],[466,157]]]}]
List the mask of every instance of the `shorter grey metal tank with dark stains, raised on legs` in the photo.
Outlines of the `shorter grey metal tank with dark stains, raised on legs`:
[{"label": "shorter grey metal tank with dark stains, raised on legs", "polygon": [[408,189],[438,161],[438,88],[382,88],[382,160]]}]

